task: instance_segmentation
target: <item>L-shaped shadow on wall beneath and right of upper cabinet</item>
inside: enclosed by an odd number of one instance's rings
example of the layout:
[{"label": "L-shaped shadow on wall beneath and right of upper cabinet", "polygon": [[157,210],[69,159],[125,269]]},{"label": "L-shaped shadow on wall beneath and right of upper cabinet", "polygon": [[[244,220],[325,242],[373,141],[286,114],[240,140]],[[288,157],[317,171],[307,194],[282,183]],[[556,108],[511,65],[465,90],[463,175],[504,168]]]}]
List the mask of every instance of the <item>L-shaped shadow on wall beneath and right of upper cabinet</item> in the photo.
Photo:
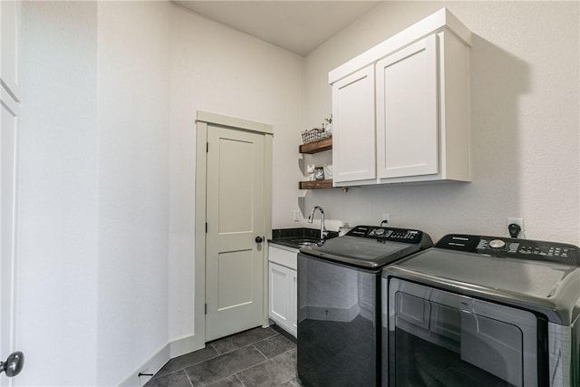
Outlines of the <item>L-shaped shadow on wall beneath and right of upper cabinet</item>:
[{"label": "L-shaped shadow on wall beneath and right of upper cabinet", "polygon": [[[436,237],[503,233],[507,215],[520,214],[519,97],[530,92],[529,65],[473,35],[470,74],[471,183],[367,186],[346,194],[309,190],[299,199],[301,209],[321,205],[330,219],[374,224],[386,208],[397,219],[393,226],[425,227]],[[480,220],[474,223],[474,218]]]}]

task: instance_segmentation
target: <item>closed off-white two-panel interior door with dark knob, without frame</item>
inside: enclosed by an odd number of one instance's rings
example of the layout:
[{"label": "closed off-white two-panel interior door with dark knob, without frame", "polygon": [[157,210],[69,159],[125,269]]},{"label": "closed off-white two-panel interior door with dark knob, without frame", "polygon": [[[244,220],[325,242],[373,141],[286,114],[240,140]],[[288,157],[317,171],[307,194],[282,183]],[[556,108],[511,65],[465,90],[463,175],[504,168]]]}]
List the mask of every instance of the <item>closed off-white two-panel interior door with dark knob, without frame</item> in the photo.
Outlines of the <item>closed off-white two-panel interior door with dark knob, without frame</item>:
[{"label": "closed off-white two-panel interior door with dark knob, without frame", "polygon": [[206,341],[262,324],[264,135],[208,126]]}]

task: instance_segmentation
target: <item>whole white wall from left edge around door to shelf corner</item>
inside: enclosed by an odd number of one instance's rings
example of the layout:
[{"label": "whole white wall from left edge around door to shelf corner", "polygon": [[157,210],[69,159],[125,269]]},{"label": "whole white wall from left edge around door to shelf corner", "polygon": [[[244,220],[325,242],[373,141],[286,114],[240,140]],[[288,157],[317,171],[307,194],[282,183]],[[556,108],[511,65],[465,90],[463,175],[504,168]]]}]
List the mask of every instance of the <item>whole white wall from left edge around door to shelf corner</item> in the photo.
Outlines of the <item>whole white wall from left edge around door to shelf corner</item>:
[{"label": "whole white wall from left edge around door to shelf corner", "polygon": [[304,59],[169,2],[25,2],[23,21],[18,382],[117,385],[195,333],[196,111],[274,125],[289,224]]}]

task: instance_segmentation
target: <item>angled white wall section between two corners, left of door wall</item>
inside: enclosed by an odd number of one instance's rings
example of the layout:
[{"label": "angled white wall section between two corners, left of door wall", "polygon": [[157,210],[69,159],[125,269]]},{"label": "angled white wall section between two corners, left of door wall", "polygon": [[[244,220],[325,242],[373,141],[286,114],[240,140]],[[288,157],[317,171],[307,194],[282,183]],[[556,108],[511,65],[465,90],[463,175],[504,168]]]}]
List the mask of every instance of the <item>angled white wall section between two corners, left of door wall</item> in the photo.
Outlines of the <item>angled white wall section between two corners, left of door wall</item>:
[{"label": "angled white wall section between two corners, left of door wall", "polygon": [[168,343],[169,10],[99,3],[101,386]]}]

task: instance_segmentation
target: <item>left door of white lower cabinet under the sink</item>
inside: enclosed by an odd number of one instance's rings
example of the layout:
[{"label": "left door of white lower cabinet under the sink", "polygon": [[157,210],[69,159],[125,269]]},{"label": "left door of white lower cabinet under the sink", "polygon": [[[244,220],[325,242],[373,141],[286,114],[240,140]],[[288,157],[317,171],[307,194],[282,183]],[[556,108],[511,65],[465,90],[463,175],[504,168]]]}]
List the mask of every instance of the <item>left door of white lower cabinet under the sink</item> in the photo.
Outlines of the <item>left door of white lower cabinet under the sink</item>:
[{"label": "left door of white lower cabinet under the sink", "polygon": [[290,270],[284,266],[269,264],[270,311],[272,320],[290,329]]}]

